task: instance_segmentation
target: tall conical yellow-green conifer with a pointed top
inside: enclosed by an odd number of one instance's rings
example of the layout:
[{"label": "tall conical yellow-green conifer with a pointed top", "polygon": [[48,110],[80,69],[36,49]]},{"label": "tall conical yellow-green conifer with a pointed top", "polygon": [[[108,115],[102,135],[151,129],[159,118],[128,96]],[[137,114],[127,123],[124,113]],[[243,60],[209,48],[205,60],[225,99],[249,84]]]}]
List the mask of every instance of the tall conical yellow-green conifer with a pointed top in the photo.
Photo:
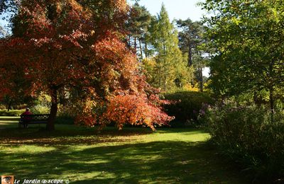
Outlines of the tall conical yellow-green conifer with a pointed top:
[{"label": "tall conical yellow-green conifer with a pointed top", "polygon": [[151,24],[151,45],[154,50],[153,85],[169,91],[181,88],[188,78],[187,62],[178,47],[178,31],[175,30],[165,6]]}]

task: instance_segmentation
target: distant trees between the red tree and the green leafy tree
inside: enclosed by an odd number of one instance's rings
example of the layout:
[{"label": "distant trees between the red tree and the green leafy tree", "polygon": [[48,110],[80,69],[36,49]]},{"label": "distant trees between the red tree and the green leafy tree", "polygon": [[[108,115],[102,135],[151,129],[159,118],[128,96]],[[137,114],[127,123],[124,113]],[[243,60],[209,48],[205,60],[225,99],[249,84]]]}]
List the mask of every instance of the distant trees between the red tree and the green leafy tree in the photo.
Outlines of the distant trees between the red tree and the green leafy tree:
[{"label": "distant trees between the red tree and the green leafy tree", "polygon": [[164,93],[204,90],[202,70],[207,66],[209,50],[201,22],[187,19],[171,23],[164,5],[157,16],[152,16],[136,3],[131,7],[126,29],[129,46],[151,85]]}]

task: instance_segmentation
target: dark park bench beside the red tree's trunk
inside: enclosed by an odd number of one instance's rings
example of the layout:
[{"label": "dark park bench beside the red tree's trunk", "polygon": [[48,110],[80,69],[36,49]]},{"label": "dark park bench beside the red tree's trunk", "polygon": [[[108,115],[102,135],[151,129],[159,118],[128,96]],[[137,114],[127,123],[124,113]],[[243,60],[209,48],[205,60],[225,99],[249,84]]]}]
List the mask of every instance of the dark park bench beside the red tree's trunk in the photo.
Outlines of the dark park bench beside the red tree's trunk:
[{"label": "dark park bench beside the red tree's trunk", "polygon": [[27,127],[29,124],[47,124],[49,114],[45,115],[21,115],[18,127]]}]

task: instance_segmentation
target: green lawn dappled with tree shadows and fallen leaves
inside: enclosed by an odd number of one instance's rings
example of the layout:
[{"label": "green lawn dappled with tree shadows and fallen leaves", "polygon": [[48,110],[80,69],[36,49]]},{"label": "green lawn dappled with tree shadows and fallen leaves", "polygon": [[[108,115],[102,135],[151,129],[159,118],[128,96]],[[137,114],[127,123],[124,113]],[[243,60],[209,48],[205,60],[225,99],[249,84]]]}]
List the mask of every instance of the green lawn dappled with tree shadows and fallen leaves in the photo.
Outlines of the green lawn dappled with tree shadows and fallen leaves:
[{"label": "green lawn dappled with tree shadows and fallen leaves", "polygon": [[[1,119],[1,118],[0,118]],[[118,131],[57,125],[18,130],[0,122],[0,174],[23,180],[70,183],[248,183],[206,143],[196,129],[143,128]],[[8,119],[8,117],[6,117]]]}]

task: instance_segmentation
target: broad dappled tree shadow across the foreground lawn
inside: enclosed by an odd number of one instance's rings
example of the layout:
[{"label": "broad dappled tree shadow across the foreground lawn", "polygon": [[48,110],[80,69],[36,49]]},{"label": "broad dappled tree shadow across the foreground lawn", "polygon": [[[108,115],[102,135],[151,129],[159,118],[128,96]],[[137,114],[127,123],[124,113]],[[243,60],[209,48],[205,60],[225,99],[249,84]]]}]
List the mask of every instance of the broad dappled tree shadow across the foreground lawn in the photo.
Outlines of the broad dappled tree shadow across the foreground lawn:
[{"label": "broad dappled tree shadow across the foreground lawn", "polygon": [[71,183],[246,183],[204,142],[53,146],[43,153],[0,151],[0,171]]}]

